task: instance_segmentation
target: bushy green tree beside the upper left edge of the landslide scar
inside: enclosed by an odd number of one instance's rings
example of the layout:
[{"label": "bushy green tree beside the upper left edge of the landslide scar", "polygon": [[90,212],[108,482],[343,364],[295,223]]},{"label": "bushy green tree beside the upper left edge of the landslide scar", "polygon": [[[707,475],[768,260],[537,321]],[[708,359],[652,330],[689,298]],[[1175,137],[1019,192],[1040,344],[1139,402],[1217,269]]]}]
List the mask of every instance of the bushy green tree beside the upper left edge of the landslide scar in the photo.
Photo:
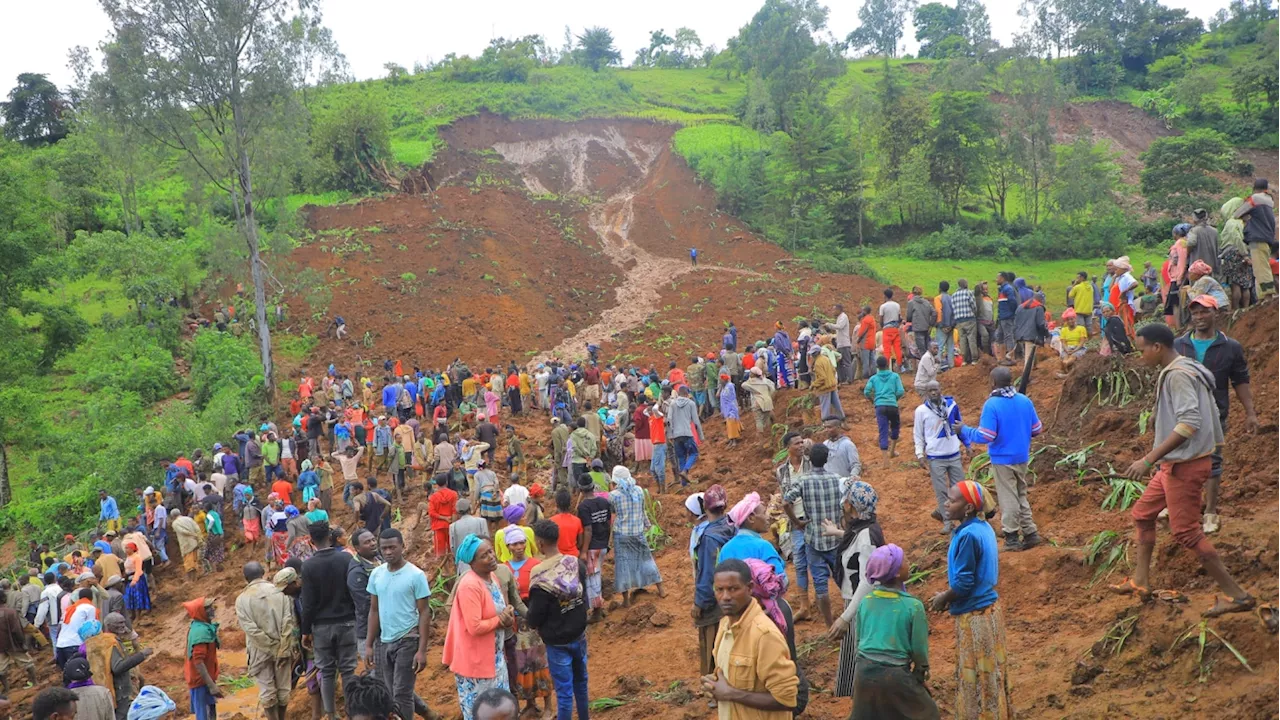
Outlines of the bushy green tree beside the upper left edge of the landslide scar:
[{"label": "bushy green tree beside the upper left edge of the landslide scar", "polygon": [[372,94],[343,95],[317,108],[311,123],[316,186],[362,192],[380,188],[371,170],[390,159],[390,118]]}]

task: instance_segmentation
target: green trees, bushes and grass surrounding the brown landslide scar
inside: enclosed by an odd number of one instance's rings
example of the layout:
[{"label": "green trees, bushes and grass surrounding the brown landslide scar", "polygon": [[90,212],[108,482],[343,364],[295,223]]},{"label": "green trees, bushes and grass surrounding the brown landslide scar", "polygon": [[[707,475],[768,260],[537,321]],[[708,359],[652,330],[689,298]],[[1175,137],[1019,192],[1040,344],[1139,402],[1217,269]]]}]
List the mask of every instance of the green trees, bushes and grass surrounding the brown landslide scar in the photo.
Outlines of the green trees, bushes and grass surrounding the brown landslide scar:
[{"label": "green trees, bushes and grass surrounding the brown landslide scar", "polygon": [[[914,10],[919,58],[897,56],[902,0],[865,4],[838,40],[815,0],[764,0],[723,47],[655,29],[627,68],[608,28],[582,28],[561,47],[497,38],[361,82],[314,8],[291,6],[306,22],[271,24],[252,58],[219,65],[256,83],[247,96],[180,38],[138,42],[170,26],[113,17],[101,60],[74,53],[74,87],[23,74],[0,108],[0,502],[24,501],[0,525],[83,518],[97,484],[128,495],[161,459],[256,416],[282,386],[270,350],[307,346],[273,311],[303,297],[320,319],[333,299],[288,258],[311,240],[300,208],[393,191],[444,150],[442,127],[480,111],[678,124],[675,150],[723,210],[822,269],[895,282],[918,277],[911,260],[1158,245],[1171,214],[1248,182],[1239,149],[1280,146],[1271,0],[1234,4],[1207,32],[1155,0],[1028,0],[1012,47],[980,3],[931,3]],[[1116,147],[1061,123],[1102,99],[1175,136],[1151,143],[1138,184]],[[192,338],[183,315],[209,297],[287,334]]]}]

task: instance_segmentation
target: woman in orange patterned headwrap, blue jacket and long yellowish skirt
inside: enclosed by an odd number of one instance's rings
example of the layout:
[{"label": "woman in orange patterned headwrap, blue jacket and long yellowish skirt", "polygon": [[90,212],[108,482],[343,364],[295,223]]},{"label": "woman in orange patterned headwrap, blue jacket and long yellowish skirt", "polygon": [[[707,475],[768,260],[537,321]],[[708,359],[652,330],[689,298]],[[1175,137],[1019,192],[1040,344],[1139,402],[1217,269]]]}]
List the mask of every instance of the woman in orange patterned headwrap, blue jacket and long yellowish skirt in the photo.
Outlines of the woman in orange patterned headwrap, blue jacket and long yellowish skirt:
[{"label": "woman in orange patterned headwrap, blue jacket and long yellowish skirt", "polygon": [[947,493],[947,518],[960,524],[947,550],[948,588],[933,596],[929,610],[950,610],[956,625],[957,720],[1014,716],[1005,655],[1005,614],[996,584],[1000,547],[983,519],[987,489],[973,480]]}]

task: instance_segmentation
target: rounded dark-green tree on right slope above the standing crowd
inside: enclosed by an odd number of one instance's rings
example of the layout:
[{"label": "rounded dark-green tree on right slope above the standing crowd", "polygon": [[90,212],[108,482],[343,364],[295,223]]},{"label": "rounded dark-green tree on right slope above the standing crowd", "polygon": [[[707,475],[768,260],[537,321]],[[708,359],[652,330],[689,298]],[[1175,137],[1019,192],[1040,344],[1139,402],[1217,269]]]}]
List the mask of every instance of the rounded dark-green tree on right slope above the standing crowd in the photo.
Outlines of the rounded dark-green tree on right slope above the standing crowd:
[{"label": "rounded dark-green tree on right slope above the standing crowd", "polygon": [[1234,158],[1226,136],[1212,129],[1155,140],[1138,156],[1147,206],[1180,214],[1212,206],[1215,196],[1222,192],[1222,181],[1212,173],[1226,172]]}]

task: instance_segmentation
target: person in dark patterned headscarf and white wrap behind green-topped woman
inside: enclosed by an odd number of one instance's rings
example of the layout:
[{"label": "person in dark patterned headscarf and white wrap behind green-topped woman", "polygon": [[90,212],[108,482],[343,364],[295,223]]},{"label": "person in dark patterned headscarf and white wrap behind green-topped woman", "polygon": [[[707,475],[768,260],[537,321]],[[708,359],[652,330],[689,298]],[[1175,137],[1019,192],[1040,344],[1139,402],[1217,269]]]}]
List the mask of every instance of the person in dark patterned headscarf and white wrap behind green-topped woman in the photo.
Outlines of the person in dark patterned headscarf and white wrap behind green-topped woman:
[{"label": "person in dark patterned headscarf and white wrap behind green-topped woman", "polygon": [[836,548],[840,562],[836,566],[835,579],[840,584],[840,596],[845,600],[844,611],[827,630],[827,639],[841,641],[840,662],[836,666],[836,697],[854,694],[858,637],[849,630],[856,618],[858,606],[872,592],[872,583],[867,578],[867,564],[872,552],[884,544],[884,530],[881,529],[876,516],[878,503],[879,496],[876,488],[863,480],[854,480],[845,487],[841,498],[844,527],[837,527],[829,520],[822,524],[823,534],[840,538],[840,546]]}]

